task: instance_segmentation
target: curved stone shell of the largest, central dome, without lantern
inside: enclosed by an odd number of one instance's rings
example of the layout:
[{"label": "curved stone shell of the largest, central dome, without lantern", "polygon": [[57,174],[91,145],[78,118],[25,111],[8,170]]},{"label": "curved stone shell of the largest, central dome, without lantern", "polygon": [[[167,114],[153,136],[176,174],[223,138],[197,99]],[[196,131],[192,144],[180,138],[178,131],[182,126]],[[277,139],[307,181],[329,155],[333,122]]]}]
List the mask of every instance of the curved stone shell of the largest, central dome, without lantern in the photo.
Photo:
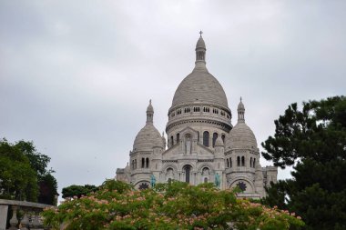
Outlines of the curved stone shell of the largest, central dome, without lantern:
[{"label": "curved stone shell of the largest, central dome, without lantern", "polygon": [[178,85],[172,107],[195,103],[219,105],[229,109],[225,91],[219,81],[209,74],[206,67],[195,68]]}]

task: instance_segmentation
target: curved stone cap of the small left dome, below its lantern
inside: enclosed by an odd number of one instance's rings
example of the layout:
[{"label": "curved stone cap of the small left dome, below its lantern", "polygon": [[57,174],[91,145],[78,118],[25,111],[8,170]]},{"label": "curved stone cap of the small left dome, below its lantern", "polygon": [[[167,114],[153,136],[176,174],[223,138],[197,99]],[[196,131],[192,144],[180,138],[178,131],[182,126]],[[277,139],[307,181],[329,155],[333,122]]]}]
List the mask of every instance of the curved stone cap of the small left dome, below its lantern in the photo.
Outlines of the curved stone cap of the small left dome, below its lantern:
[{"label": "curved stone cap of the small left dome, below its lantern", "polygon": [[138,132],[133,151],[150,151],[153,147],[163,147],[162,136],[153,124],[147,124]]}]

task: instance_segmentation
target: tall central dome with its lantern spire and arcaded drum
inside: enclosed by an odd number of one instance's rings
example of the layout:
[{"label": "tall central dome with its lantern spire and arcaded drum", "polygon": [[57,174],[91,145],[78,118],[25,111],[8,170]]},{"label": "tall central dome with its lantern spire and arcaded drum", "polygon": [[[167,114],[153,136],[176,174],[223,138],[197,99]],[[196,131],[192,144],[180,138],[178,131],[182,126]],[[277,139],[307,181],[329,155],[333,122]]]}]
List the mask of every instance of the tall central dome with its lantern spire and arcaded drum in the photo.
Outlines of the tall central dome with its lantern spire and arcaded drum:
[{"label": "tall central dome with its lantern spire and arcaded drum", "polygon": [[[178,85],[168,110],[166,132],[169,135],[186,125],[198,130],[208,124],[227,133],[232,128],[232,115],[225,91],[206,67],[206,50],[200,35],[195,49],[195,68]],[[200,132],[202,134],[202,130]]]}]

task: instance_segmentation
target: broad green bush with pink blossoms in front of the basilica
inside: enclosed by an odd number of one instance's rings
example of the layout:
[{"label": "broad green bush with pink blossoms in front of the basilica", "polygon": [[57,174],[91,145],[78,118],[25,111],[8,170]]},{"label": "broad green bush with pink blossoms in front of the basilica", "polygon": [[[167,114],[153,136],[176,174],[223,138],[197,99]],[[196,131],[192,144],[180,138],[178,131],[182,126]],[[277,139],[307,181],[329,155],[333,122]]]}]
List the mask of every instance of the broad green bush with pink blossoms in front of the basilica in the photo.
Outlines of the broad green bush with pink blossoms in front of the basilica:
[{"label": "broad green bush with pink blossoms in front of the basilica", "polygon": [[[108,180],[96,193],[66,199],[44,212],[46,225],[74,229],[300,229],[287,211],[239,200],[212,184],[182,182],[136,191]],[[111,189],[110,189],[111,188]]]}]

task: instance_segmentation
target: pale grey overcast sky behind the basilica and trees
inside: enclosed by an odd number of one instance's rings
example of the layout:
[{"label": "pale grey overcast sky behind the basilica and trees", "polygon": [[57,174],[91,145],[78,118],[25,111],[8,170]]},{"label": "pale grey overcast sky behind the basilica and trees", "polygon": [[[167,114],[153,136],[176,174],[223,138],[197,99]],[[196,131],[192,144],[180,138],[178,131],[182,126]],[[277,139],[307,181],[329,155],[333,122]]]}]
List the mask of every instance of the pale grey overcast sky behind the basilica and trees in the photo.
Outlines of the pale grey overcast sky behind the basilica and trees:
[{"label": "pale grey overcast sky behind the basilica and trees", "polygon": [[232,124],[242,96],[260,146],[291,103],[345,95],[345,12],[346,1],[1,1],[0,137],[34,141],[59,190],[100,185],[127,165],[149,99],[165,130],[202,30]]}]

